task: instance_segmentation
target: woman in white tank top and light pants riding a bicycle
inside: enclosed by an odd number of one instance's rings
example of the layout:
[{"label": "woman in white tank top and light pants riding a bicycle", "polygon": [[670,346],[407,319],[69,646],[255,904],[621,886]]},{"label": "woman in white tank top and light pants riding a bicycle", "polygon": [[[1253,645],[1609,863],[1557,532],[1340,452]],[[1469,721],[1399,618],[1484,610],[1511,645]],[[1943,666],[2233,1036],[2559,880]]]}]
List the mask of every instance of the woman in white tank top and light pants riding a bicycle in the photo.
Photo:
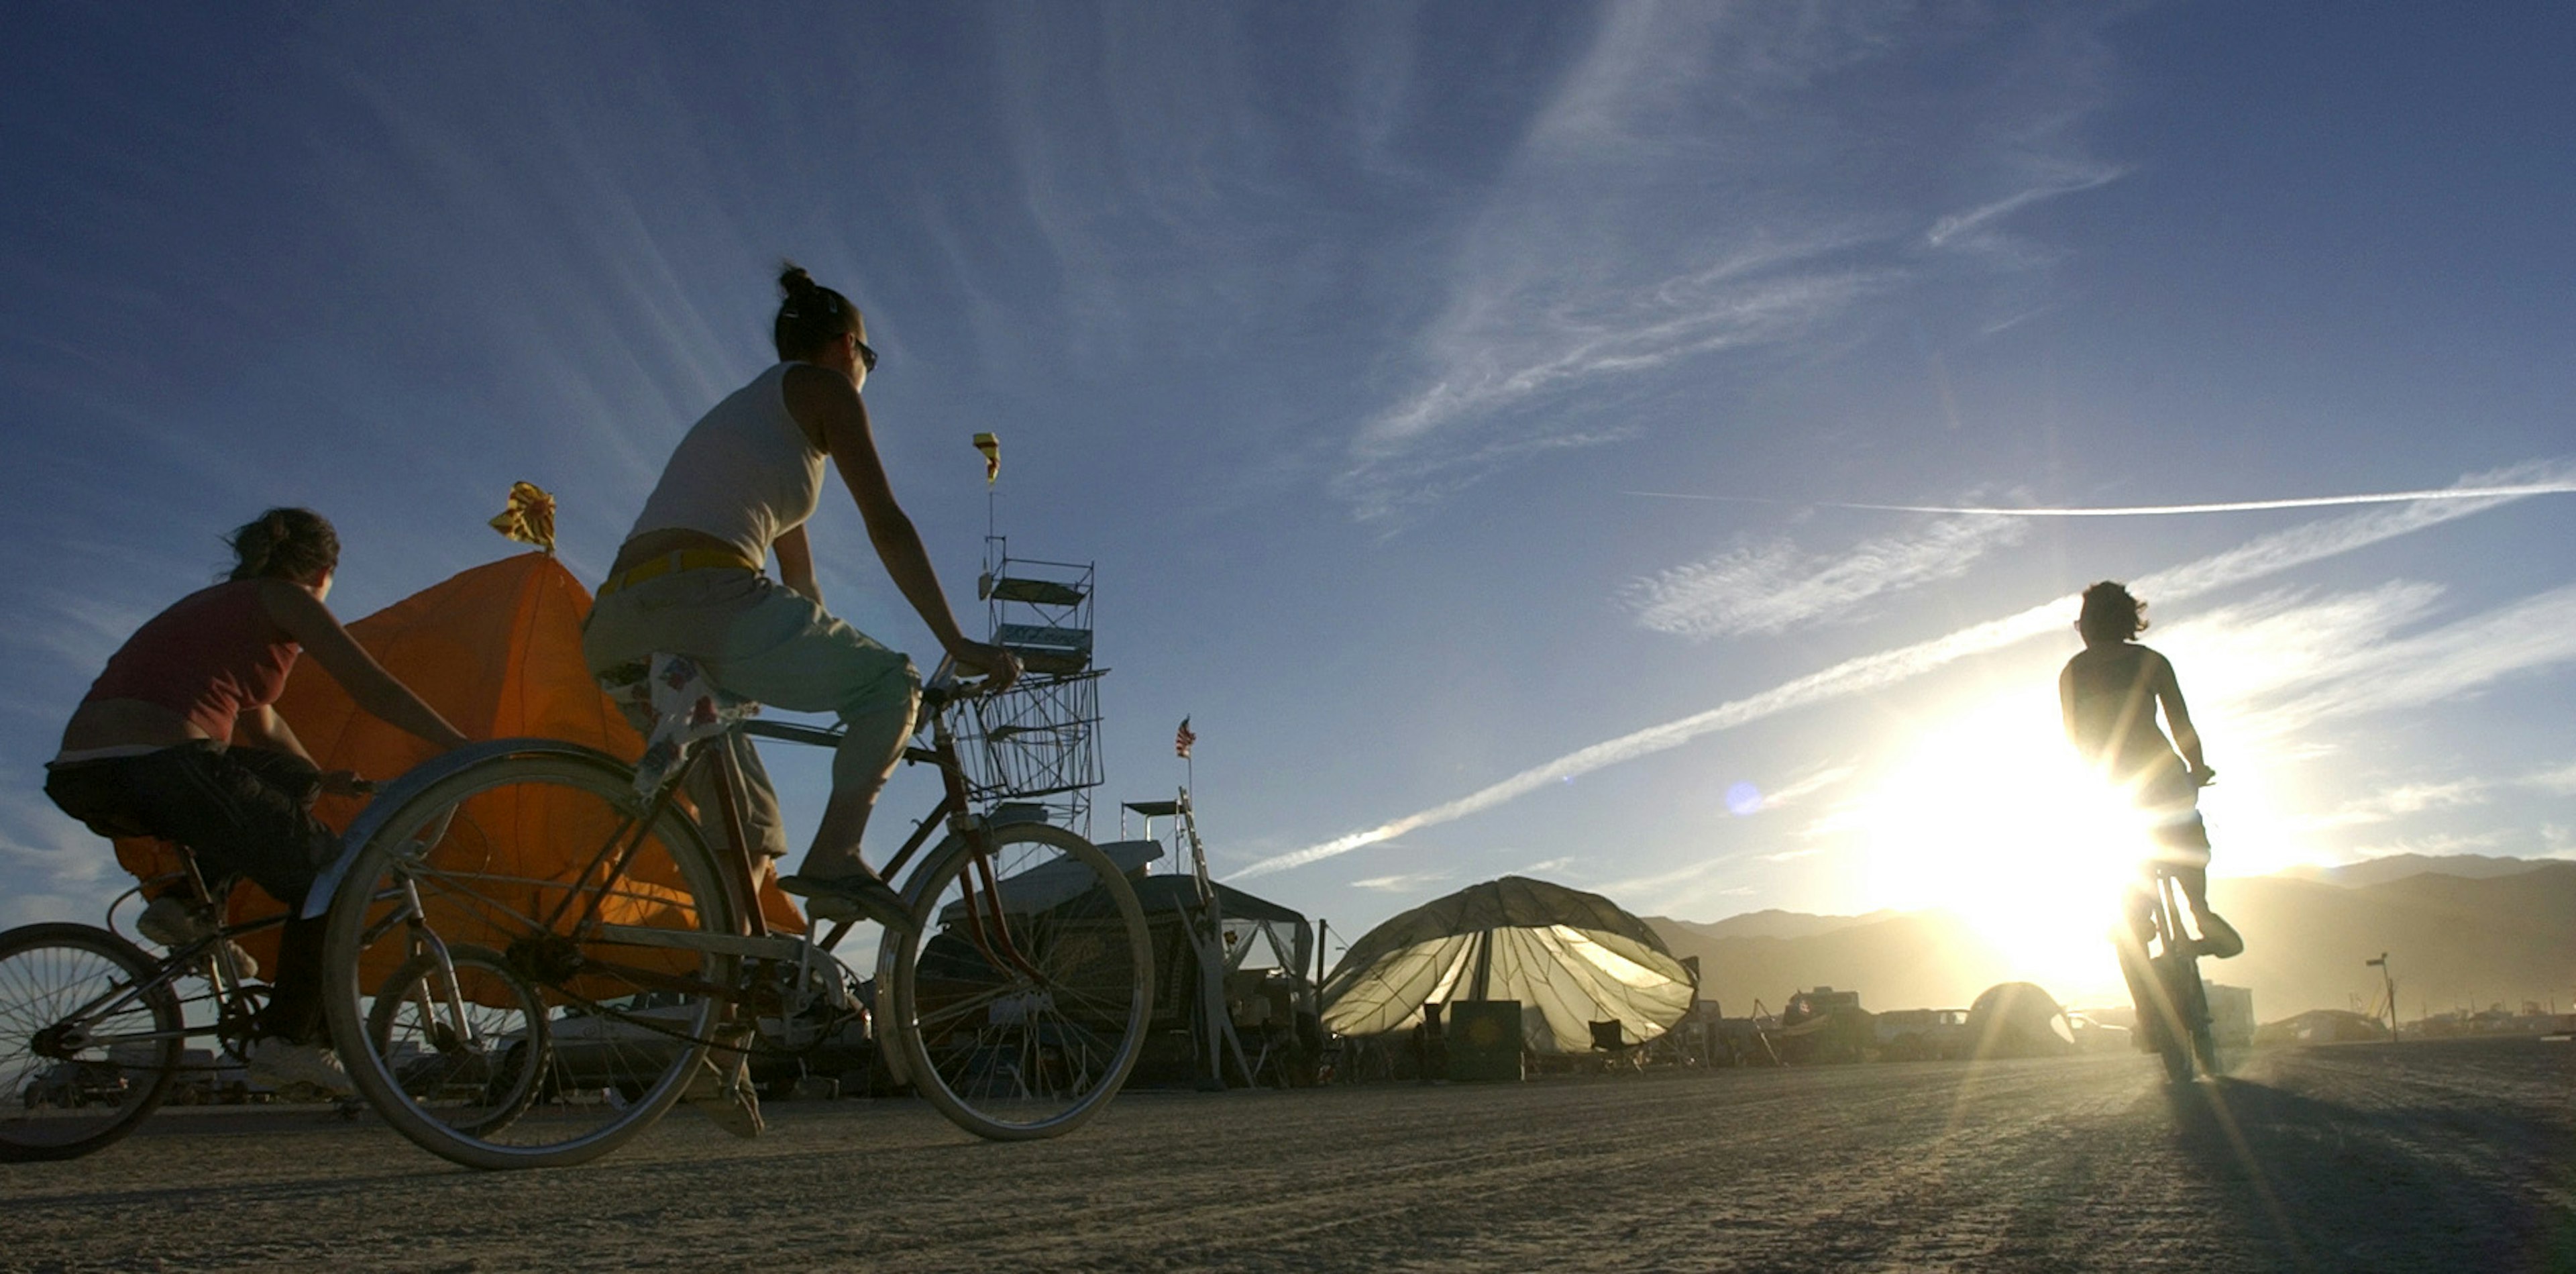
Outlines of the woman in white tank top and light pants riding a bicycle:
[{"label": "woman in white tank top and light pants riding a bicycle", "polygon": [[[835,620],[814,584],[804,522],[829,458],[868,522],[868,543],[940,649],[966,672],[1010,682],[1020,661],[966,638],[912,520],[894,502],[868,432],[860,386],[876,365],[866,319],[842,293],[793,263],[773,322],[778,365],[698,420],[672,450],[582,633],[595,674],[657,651],[698,659],[724,690],[791,710],[832,710],[848,723],[832,757],[832,800],[796,875],[817,919],[899,906],[860,860],[868,811],[912,736],[920,679],[912,661]],[[775,553],[775,579],[762,574]],[[755,785],[744,803],[770,854],[783,854],[778,800],[750,746],[737,752]],[[701,808],[714,808],[701,800]]]}]

